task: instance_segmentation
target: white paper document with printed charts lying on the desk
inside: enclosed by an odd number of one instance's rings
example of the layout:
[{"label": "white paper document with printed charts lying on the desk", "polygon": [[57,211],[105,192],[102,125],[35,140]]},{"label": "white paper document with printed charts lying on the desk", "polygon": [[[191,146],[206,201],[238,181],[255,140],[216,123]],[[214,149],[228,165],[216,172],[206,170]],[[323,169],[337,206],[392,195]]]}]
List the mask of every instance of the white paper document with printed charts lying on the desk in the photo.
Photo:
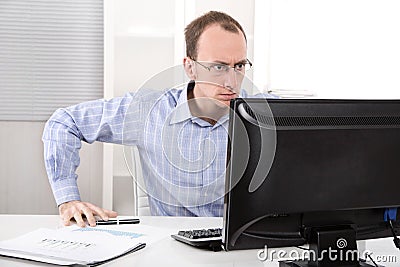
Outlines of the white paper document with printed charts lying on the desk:
[{"label": "white paper document with printed charts lying on the desk", "polygon": [[41,228],[1,241],[0,255],[57,265],[96,265],[143,248],[159,238],[154,234],[154,227],[142,225]]}]

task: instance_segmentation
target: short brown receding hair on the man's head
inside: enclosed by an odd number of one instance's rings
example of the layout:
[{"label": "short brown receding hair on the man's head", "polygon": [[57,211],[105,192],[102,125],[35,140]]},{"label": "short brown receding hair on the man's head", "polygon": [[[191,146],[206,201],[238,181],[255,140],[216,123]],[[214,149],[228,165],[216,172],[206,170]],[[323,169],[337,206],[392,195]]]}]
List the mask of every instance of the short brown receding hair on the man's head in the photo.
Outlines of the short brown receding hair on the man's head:
[{"label": "short brown receding hair on the man's head", "polygon": [[199,41],[200,35],[204,30],[212,25],[218,24],[224,30],[234,33],[239,33],[241,31],[246,39],[246,34],[242,26],[234,18],[218,11],[210,11],[197,19],[193,20],[185,28],[185,41],[186,41],[186,56],[196,60],[197,58],[197,43]]}]

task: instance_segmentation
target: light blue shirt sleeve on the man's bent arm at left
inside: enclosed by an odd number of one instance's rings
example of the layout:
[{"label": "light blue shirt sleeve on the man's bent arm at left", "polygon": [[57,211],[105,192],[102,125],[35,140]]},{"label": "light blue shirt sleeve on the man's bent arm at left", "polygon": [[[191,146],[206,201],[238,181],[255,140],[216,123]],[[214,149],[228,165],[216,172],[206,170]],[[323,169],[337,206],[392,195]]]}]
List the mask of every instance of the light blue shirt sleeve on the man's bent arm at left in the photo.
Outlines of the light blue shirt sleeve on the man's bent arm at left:
[{"label": "light blue shirt sleeve on the man's bent arm at left", "polygon": [[[47,175],[57,205],[80,200],[76,169],[79,166],[81,141],[123,144],[124,119],[127,113],[136,113],[140,122],[140,107],[134,94],[111,100],[94,100],[68,108],[58,109],[47,121],[42,141]],[[130,122],[135,123],[135,122]],[[136,127],[140,129],[140,127]],[[130,132],[130,144],[138,140],[138,132]]]}]

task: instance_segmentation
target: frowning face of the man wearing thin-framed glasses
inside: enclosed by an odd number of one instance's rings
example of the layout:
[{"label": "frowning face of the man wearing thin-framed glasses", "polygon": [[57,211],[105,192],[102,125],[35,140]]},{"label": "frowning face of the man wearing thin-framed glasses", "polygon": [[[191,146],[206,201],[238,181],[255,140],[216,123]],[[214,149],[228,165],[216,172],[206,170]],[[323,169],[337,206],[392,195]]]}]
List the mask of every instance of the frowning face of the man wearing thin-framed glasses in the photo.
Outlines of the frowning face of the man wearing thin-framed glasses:
[{"label": "frowning face of the man wearing thin-framed glasses", "polygon": [[219,68],[216,63],[234,67],[236,64],[246,62],[247,46],[242,32],[233,33],[219,25],[212,25],[200,36],[197,48],[198,63],[192,63],[196,75],[194,97],[211,98],[217,100],[219,105],[229,106],[230,100],[238,97],[240,93],[244,73],[230,68],[222,75],[216,75],[204,66]]}]

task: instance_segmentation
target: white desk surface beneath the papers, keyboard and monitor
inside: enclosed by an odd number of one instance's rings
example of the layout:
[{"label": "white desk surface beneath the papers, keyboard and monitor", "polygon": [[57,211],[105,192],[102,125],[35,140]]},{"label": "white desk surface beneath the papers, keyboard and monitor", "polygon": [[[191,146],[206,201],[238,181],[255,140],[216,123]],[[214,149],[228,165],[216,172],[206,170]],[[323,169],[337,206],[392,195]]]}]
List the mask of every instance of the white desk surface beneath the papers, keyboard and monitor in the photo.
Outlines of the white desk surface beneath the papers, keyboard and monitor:
[{"label": "white desk surface beneath the papers, keyboard and monitor", "polygon": [[[279,266],[277,260],[261,261],[258,258],[259,250],[212,252],[193,248],[169,236],[182,229],[221,227],[222,218],[145,216],[141,217],[141,224],[165,228],[169,234],[140,251],[102,266]],[[60,227],[61,221],[57,215],[0,215],[0,225],[0,240],[6,240],[41,227],[52,229]],[[372,251],[375,260],[381,256],[379,258],[381,265],[399,266],[400,251],[394,247],[391,238],[359,241],[358,246],[361,250]],[[50,265],[0,257],[0,266]]]}]

